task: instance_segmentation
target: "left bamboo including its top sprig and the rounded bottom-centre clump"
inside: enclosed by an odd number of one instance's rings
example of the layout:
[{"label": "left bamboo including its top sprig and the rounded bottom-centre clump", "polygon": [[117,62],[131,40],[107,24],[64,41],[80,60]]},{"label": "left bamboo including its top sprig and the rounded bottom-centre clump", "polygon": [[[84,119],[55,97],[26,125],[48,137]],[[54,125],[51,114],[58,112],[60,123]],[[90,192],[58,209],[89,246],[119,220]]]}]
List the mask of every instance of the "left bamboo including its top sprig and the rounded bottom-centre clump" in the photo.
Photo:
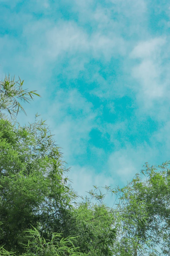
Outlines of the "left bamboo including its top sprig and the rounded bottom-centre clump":
[{"label": "left bamboo including its top sprig and the rounded bottom-centre clump", "polygon": [[76,202],[60,149],[38,115],[33,124],[17,122],[21,101],[38,95],[22,85],[9,76],[0,83],[1,255],[111,255],[110,208]]}]

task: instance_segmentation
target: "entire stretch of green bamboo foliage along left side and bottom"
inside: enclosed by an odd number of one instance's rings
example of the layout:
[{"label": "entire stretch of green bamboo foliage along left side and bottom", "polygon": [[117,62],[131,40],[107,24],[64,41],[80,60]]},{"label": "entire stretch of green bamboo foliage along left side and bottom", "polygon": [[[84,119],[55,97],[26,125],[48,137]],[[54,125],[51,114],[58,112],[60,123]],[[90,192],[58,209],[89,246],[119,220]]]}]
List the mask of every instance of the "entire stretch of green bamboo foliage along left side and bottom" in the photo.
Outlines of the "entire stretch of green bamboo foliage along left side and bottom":
[{"label": "entire stretch of green bamboo foliage along left side and bottom", "polygon": [[17,121],[21,102],[38,95],[22,84],[0,82],[0,255],[170,255],[170,162],[146,163],[124,188],[94,186],[78,202],[45,122]]}]

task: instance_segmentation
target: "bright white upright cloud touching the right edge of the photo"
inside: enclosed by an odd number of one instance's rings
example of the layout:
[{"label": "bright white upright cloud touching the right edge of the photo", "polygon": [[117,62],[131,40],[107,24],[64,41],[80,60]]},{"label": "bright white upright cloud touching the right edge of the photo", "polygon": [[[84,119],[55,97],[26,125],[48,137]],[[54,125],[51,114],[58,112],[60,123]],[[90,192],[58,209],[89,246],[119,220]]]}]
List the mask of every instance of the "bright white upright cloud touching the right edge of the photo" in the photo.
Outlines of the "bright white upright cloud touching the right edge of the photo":
[{"label": "bright white upright cloud touching the right edge of the photo", "polygon": [[168,42],[169,38],[164,37],[143,41],[130,54],[139,62],[132,67],[131,74],[137,83],[131,88],[136,92],[140,111],[155,118],[163,114],[164,104],[169,105]]}]

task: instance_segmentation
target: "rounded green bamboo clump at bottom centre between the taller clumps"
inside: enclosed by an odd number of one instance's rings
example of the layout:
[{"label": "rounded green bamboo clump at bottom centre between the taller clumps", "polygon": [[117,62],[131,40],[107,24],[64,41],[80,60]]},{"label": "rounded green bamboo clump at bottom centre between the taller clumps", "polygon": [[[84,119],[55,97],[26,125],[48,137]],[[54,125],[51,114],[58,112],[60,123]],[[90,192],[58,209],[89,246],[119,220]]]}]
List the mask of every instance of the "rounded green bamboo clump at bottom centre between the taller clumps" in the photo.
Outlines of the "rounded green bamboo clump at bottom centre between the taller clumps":
[{"label": "rounded green bamboo clump at bottom centre between the taller clumps", "polygon": [[103,202],[92,203],[86,198],[70,213],[68,221],[68,227],[72,227],[70,234],[78,235],[75,246],[80,247],[80,252],[93,256],[112,255],[115,217]]}]

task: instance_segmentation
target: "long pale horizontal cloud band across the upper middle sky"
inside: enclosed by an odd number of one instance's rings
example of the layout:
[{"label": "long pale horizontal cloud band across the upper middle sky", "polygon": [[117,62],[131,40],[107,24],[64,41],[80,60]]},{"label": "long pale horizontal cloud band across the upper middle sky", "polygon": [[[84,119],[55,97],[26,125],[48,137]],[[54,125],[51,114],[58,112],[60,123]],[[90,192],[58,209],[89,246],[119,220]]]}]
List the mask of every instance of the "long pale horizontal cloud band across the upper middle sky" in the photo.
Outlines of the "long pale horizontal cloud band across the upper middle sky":
[{"label": "long pale horizontal cloud band across the upper middle sky", "polygon": [[104,35],[102,32],[95,32],[89,35],[73,22],[58,23],[47,32],[46,38],[48,39],[48,54],[51,58],[63,54],[74,56],[80,53],[88,54],[89,58],[104,57],[110,60],[115,52],[123,53],[124,51],[122,38],[113,33]]}]

